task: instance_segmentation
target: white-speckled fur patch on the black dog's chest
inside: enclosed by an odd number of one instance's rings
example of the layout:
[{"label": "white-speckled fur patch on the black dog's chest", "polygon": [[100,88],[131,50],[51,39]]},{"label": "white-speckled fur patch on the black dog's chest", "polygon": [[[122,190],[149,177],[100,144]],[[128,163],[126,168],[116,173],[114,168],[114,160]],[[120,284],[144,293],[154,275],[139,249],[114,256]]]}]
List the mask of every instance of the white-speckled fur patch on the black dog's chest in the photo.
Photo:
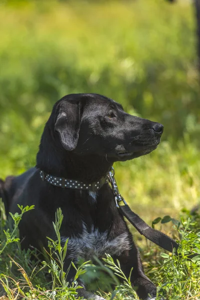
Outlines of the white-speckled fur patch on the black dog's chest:
[{"label": "white-speckled fur patch on the black dog's chest", "polygon": [[[61,241],[65,242],[67,237],[62,236]],[[105,253],[120,255],[124,250],[130,248],[128,234],[126,232],[110,239],[108,231],[100,232],[97,228],[91,227],[88,230],[83,224],[81,234],[69,237],[67,243],[68,257],[77,259],[91,259],[94,255],[102,257]]]}]

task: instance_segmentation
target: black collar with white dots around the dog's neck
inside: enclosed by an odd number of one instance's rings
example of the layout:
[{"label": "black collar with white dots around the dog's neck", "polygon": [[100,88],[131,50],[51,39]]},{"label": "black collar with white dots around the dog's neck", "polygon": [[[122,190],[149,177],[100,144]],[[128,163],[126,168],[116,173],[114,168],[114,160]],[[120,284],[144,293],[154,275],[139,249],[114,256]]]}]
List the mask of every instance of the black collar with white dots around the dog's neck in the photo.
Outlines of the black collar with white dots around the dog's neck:
[{"label": "black collar with white dots around the dog's neck", "polygon": [[84,183],[82,181],[66,179],[64,177],[56,177],[51,174],[40,170],[40,177],[43,181],[46,181],[54,186],[59,186],[62,188],[72,188],[72,189],[85,189],[95,191],[98,190],[105,182],[108,180],[108,175],[102,177],[100,180],[92,182],[92,183]]}]

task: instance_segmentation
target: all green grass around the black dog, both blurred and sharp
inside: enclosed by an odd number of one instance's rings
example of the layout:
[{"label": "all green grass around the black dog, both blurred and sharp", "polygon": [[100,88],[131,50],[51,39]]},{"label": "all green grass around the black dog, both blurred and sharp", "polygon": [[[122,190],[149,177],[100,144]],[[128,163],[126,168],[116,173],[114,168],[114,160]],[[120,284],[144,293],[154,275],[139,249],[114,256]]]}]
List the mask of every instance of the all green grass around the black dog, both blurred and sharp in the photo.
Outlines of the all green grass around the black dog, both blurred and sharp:
[{"label": "all green grass around the black dog, both blurred and sharp", "polygon": [[[162,122],[158,148],[116,163],[116,180],[130,207],[149,224],[165,215],[180,221],[178,228],[171,221],[155,227],[181,239],[182,257],[160,256],[162,250],[130,226],[146,274],[167,300],[199,299],[199,260],[185,257],[188,251],[199,254],[200,227],[199,214],[189,213],[200,199],[200,90],[192,4],[6,0],[0,4],[0,28],[0,177],[35,164],[44,123],[64,94],[101,93],[130,113]],[[24,299],[72,299],[76,286],[69,289],[60,263],[52,259],[41,266],[36,256],[30,261],[35,251],[21,251],[16,226],[6,235],[4,222],[2,212],[0,278],[8,294],[3,299],[17,298],[17,292]],[[57,246],[52,242],[51,250]],[[95,271],[89,264],[78,269],[86,268],[95,290],[95,278],[100,278],[102,295],[117,282],[110,259],[106,279],[102,265]],[[128,284],[117,288],[116,299],[135,297]]]}]

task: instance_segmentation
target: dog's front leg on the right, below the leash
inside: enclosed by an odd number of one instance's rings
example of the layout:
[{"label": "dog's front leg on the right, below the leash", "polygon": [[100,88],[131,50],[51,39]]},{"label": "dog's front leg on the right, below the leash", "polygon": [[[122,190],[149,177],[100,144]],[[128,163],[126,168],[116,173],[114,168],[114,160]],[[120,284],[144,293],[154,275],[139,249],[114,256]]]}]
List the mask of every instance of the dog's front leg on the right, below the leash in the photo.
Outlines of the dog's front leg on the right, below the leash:
[{"label": "dog's front leg on the right, below the leash", "polygon": [[156,286],[144,274],[139,251],[133,242],[130,250],[127,250],[120,256],[113,258],[119,260],[121,270],[127,278],[129,277],[131,268],[133,268],[130,280],[141,299],[155,299]]}]

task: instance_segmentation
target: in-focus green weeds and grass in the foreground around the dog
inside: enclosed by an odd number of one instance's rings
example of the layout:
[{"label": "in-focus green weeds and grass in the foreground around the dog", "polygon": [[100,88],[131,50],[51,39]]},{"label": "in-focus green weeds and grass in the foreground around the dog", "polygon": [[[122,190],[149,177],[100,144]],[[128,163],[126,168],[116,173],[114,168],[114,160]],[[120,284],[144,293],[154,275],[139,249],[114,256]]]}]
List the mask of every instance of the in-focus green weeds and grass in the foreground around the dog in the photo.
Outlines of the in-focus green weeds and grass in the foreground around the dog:
[{"label": "in-focus green weeds and grass in the foreground around the dog", "polygon": [[[1,202],[2,207],[2,202]],[[88,288],[97,290],[105,299],[138,299],[134,288],[131,286],[130,276],[125,277],[120,269],[119,261],[113,261],[109,254],[100,261],[93,257],[91,261],[80,260],[76,267],[73,262],[69,267],[76,269],[74,280],[70,285],[67,281],[67,271],[63,271],[63,260],[67,254],[67,240],[64,244],[60,241],[59,228],[63,215],[58,209],[53,227],[57,240],[48,238],[48,257],[40,261],[35,249],[27,251],[20,249],[17,225],[23,213],[33,209],[33,206],[19,207],[21,213],[10,213],[13,228],[4,229],[5,223],[1,222],[0,243],[0,283],[1,299],[75,299],[77,278],[87,277]],[[145,266],[149,277],[157,284],[159,295],[168,300],[198,299],[200,297],[200,230],[199,214],[190,214],[187,210],[182,212],[179,220],[165,216],[162,222],[173,220],[174,229],[179,236],[180,246],[178,253],[161,252],[155,246],[145,247],[144,258],[148,260]],[[158,219],[154,220],[158,223]],[[8,226],[8,224],[6,225]],[[10,224],[9,224],[10,226]],[[155,249],[157,250],[155,252]],[[149,250],[149,252],[148,252]],[[193,254],[192,258],[189,255]],[[34,258],[33,258],[34,257]],[[147,259],[146,259],[147,258]],[[145,265],[145,263],[144,263]],[[131,271],[134,271],[131,269]],[[86,278],[85,277],[85,278]],[[103,291],[101,278],[106,278],[105,291]],[[97,279],[97,280],[96,280]],[[122,281],[119,284],[119,279]],[[104,280],[105,281],[105,280]],[[96,282],[96,285],[94,284]],[[99,288],[99,285],[102,285]],[[115,288],[112,289],[113,285]]]}]

